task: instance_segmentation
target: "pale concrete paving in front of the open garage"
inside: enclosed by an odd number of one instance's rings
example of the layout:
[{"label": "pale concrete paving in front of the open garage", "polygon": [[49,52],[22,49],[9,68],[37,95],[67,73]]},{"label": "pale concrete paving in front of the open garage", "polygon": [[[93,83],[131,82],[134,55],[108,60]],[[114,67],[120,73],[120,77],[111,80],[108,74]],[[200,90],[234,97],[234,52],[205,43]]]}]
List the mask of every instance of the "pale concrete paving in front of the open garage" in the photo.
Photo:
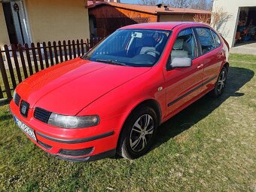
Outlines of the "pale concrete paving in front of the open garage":
[{"label": "pale concrete paving in front of the open garage", "polygon": [[230,49],[230,53],[242,53],[256,55],[256,41],[246,44],[237,44]]}]

